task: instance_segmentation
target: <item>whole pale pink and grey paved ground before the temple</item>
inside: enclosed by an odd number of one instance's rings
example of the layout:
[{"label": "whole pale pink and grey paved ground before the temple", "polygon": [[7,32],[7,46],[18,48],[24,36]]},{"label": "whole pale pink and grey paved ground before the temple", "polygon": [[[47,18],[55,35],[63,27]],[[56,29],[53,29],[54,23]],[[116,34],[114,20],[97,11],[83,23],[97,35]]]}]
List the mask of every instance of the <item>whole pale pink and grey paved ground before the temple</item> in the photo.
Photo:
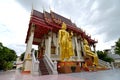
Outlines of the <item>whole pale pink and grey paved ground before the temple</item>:
[{"label": "whole pale pink and grey paved ground before the temple", "polygon": [[72,74],[32,76],[18,70],[0,72],[0,80],[120,80],[120,69]]}]

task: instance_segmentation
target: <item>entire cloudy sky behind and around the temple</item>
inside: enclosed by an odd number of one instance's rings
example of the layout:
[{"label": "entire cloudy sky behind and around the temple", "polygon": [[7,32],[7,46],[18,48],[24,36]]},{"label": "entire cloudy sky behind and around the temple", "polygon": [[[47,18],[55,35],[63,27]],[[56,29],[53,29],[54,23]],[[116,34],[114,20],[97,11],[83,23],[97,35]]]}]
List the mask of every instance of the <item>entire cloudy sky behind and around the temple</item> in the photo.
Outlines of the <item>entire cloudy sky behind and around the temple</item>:
[{"label": "entire cloudy sky behind and around the temple", "polygon": [[[120,38],[120,0],[0,0],[0,42],[20,55],[32,8],[71,19],[92,39],[97,50],[110,49]],[[34,46],[33,46],[34,47]]]}]

